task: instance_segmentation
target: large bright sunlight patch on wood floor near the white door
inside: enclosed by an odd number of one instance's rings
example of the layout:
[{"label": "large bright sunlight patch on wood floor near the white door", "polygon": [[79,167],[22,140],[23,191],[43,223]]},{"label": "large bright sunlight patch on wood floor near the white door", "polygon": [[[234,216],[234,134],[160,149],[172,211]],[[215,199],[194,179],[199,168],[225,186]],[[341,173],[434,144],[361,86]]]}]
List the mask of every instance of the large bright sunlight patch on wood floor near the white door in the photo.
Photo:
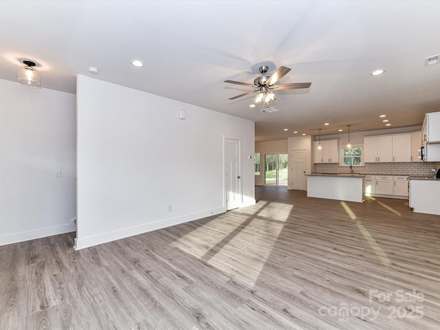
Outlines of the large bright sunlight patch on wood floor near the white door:
[{"label": "large bright sunlight patch on wood floor near the white door", "polygon": [[278,208],[277,204],[261,205],[244,221],[231,221],[233,217],[214,219],[173,242],[173,246],[253,287],[293,208],[283,204],[283,216],[278,214],[273,219],[270,209]]}]

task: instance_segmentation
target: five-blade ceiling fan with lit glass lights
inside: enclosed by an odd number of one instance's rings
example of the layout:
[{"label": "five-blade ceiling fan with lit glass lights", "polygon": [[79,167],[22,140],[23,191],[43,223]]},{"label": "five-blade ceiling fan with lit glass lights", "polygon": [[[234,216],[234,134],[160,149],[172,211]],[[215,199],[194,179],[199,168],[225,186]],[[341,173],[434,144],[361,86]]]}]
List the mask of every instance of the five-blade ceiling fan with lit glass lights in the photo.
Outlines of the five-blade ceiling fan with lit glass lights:
[{"label": "five-blade ceiling fan with lit glass lights", "polygon": [[309,88],[311,83],[294,83],[294,84],[281,84],[281,85],[275,85],[275,83],[283,78],[291,69],[288,67],[279,67],[276,69],[276,72],[272,74],[272,76],[265,76],[267,70],[269,67],[266,65],[263,65],[259,68],[261,74],[263,74],[261,77],[256,78],[254,80],[254,85],[248,84],[248,83],[241,83],[239,81],[234,80],[225,80],[225,83],[235,84],[235,85],[242,85],[247,87],[254,87],[255,89],[253,91],[247,91],[246,93],[234,96],[233,98],[230,98],[229,100],[235,100],[236,98],[241,98],[241,96],[245,96],[248,94],[255,93],[256,91],[259,91],[259,94],[254,99],[255,103],[265,102],[269,103],[275,100],[275,94],[270,89],[299,89],[299,88]]}]

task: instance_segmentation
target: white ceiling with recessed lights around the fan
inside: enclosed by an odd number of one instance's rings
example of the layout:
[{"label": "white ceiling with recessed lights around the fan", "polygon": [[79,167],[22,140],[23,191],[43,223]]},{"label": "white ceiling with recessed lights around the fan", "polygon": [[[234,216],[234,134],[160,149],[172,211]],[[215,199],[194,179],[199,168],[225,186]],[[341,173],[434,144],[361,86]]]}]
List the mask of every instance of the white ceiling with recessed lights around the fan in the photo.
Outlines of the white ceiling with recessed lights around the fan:
[{"label": "white ceiling with recessed lights around the fan", "polygon": [[[30,59],[42,87],[75,93],[94,66],[98,79],[254,120],[256,141],[384,129],[382,113],[417,126],[440,111],[440,63],[424,62],[440,54],[439,15],[440,1],[1,1],[0,78],[17,81]],[[255,94],[228,100],[250,89],[223,80],[253,83],[261,65],[311,87],[275,91],[278,113],[251,109]]]}]

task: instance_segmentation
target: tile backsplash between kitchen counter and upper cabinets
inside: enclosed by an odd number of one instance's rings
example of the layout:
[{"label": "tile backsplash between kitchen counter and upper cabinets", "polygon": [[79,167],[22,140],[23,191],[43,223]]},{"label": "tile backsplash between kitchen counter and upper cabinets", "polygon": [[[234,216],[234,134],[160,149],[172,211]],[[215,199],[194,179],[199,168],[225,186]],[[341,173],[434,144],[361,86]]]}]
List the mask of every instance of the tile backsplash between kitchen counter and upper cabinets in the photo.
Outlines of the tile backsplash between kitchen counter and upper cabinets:
[{"label": "tile backsplash between kitchen counter and upper cabinets", "polygon": [[[364,166],[353,166],[353,173],[371,175],[432,175],[432,168],[440,168],[440,162],[414,163],[366,163]],[[339,164],[315,164],[316,173],[350,173],[348,166]]]}]

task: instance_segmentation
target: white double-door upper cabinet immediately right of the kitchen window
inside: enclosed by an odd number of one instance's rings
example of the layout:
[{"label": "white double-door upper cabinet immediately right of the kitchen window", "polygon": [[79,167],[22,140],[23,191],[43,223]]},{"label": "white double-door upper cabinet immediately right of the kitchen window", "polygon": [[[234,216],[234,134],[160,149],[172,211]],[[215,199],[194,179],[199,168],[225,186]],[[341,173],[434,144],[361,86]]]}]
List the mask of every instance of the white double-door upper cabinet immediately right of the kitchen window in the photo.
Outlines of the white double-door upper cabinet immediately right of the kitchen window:
[{"label": "white double-door upper cabinet immediately right of the kitchen window", "polygon": [[393,135],[364,137],[364,162],[393,162]]}]

